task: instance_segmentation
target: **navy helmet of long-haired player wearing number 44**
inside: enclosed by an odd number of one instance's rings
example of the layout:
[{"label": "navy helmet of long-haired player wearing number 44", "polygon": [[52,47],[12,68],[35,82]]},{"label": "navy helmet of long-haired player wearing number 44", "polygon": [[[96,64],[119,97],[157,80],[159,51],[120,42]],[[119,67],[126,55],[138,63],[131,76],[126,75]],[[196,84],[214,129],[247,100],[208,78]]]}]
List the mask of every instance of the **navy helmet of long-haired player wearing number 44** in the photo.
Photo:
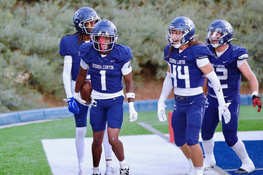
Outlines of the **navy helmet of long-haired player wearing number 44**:
[{"label": "navy helmet of long-haired player wearing number 44", "polygon": [[[176,17],[166,30],[166,43],[169,46],[179,48],[193,39],[195,25],[188,17]],[[179,42],[178,42],[179,41]]]}]

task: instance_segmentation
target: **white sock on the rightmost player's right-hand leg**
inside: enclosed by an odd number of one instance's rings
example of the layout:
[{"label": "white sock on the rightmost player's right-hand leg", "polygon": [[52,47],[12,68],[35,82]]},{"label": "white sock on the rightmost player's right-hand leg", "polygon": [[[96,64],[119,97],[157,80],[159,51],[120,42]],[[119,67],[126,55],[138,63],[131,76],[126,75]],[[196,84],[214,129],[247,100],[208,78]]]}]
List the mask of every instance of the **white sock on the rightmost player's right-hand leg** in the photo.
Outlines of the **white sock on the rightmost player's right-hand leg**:
[{"label": "white sock on the rightmost player's right-hand leg", "polygon": [[236,155],[240,158],[242,163],[250,163],[250,158],[248,157],[248,154],[246,152],[245,145],[240,139],[238,139],[235,145],[231,148],[235,151]]}]

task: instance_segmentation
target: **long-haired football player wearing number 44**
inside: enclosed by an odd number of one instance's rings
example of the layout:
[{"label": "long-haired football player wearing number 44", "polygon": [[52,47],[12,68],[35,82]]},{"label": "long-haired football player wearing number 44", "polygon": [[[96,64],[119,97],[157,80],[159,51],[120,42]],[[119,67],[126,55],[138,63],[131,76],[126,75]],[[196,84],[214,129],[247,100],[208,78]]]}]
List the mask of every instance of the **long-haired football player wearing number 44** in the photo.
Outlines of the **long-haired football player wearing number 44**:
[{"label": "long-haired football player wearing number 44", "polygon": [[193,40],[196,36],[194,33],[195,25],[187,17],[174,18],[167,28],[164,59],[168,62],[168,71],[157,113],[161,122],[167,120],[164,102],[174,87],[174,141],[189,161],[188,175],[203,174],[203,151],[199,144],[199,132],[205,110],[202,89],[204,76],[211,81],[218,97],[219,116],[223,115],[227,123],[230,120],[229,103],[225,103],[219,79],[209,63],[213,54],[202,42]]}]

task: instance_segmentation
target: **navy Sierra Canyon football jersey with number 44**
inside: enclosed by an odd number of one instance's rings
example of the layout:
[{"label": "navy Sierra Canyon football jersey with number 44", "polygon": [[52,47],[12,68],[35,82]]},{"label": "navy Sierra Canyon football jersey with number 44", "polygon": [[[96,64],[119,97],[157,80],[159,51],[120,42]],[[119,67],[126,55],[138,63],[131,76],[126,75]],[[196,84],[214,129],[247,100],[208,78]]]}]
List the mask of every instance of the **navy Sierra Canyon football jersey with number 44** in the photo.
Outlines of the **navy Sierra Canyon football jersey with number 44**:
[{"label": "navy Sierra Canyon football jersey with number 44", "polygon": [[[173,87],[197,88],[204,85],[204,73],[198,68],[196,59],[212,57],[213,54],[204,44],[187,47],[181,53],[173,48],[169,56],[169,47],[164,48],[164,60],[168,61],[171,70]],[[169,57],[168,57],[169,56]]]}]

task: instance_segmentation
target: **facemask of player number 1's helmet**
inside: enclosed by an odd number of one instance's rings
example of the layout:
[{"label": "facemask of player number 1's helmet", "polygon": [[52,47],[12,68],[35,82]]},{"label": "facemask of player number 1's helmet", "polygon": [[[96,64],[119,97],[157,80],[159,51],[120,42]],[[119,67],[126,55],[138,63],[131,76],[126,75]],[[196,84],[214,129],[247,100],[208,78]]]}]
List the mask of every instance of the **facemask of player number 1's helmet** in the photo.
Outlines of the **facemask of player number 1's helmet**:
[{"label": "facemask of player number 1's helmet", "polygon": [[[97,37],[100,37],[100,39],[97,39]],[[105,42],[105,37],[111,37],[111,41]],[[113,49],[113,46],[118,39],[117,35],[114,34],[108,34],[108,32],[99,32],[99,33],[92,33],[91,40],[93,41],[93,46],[97,51],[101,51],[103,53],[106,53],[109,50]]]}]

